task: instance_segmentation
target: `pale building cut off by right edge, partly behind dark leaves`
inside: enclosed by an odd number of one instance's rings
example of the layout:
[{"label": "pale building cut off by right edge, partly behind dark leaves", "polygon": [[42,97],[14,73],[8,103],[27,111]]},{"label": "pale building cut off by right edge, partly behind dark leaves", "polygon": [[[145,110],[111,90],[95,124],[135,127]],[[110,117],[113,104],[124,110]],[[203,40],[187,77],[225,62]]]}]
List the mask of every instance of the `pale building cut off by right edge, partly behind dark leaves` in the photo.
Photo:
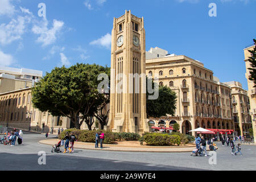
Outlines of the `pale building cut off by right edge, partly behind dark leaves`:
[{"label": "pale building cut off by right edge, partly behind dark leaves", "polygon": [[250,78],[250,71],[248,68],[251,68],[250,62],[249,62],[249,57],[251,57],[251,53],[249,50],[253,50],[255,47],[254,46],[249,46],[245,49],[243,49],[243,52],[245,54],[245,68],[246,68],[246,73],[245,77],[247,79],[247,84],[248,84],[248,96],[250,100],[250,115],[252,119],[252,125],[253,125],[253,134],[254,134],[254,139],[256,137],[256,88],[254,87],[255,84],[253,81],[249,80]]}]

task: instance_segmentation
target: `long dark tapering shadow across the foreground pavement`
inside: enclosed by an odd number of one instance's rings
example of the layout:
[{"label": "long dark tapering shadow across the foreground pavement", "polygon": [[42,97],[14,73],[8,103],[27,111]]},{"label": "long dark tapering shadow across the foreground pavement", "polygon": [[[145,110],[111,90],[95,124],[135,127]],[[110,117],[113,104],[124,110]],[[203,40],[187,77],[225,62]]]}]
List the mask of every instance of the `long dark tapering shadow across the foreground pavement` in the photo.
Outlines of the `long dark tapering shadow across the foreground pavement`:
[{"label": "long dark tapering shadow across the foreground pavement", "polygon": [[[44,170],[82,170],[82,171],[197,171],[202,169],[176,166],[159,166],[155,164],[125,162],[120,160],[95,159],[72,156],[72,154],[48,153],[46,165],[39,165],[37,154],[0,153],[0,170],[44,171]],[[68,156],[69,155],[69,156]]]}]

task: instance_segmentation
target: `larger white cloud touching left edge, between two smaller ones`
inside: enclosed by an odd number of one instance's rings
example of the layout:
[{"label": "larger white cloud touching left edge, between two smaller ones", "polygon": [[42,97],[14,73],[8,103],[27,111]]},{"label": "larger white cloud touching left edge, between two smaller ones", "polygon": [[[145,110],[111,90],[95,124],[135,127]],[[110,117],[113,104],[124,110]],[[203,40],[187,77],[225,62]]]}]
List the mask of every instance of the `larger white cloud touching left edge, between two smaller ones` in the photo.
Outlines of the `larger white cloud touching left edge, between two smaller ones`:
[{"label": "larger white cloud touching left edge, between two smaller ones", "polygon": [[0,43],[6,45],[14,40],[22,39],[30,21],[31,16],[18,16],[17,19],[12,19],[9,24],[2,23],[0,25]]}]

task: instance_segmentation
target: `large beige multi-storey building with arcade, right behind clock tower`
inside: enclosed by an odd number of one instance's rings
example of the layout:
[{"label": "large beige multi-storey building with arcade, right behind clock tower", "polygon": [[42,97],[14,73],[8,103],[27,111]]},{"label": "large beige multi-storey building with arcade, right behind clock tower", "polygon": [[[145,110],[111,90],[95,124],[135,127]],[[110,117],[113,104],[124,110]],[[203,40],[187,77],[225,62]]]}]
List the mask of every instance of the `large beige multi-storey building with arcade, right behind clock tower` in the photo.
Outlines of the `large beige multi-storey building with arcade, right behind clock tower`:
[{"label": "large beige multi-storey building with arcade, right behind clock tower", "polygon": [[186,134],[197,127],[234,130],[230,86],[213,77],[213,72],[200,61],[167,52],[163,55],[160,48],[151,50],[154,52],[146,53],[146,75],[159,78],[159,85],[170,86],[177,103],[174,115],[149,118],[148,122],[167,127],[177,122]]}]

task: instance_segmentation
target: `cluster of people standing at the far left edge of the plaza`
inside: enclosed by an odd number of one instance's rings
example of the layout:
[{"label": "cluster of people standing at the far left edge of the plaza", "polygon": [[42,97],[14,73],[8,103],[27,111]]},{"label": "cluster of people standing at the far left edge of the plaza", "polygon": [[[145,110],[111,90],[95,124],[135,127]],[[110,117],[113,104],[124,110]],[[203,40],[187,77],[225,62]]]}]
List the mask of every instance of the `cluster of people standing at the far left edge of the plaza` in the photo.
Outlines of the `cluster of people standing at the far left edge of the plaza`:
[{"label": "cluster of people standing at the far left edge of the plaza", "polygon": [[13,129],[11,132],[5,133],[5,140],[3,141],[3,144],[7,145],[10,144],[11,146],[15,146],[16,140],[18,141],[18,144],[22,144],[23,141],[23,133],[22,130],[16,130]]}]

